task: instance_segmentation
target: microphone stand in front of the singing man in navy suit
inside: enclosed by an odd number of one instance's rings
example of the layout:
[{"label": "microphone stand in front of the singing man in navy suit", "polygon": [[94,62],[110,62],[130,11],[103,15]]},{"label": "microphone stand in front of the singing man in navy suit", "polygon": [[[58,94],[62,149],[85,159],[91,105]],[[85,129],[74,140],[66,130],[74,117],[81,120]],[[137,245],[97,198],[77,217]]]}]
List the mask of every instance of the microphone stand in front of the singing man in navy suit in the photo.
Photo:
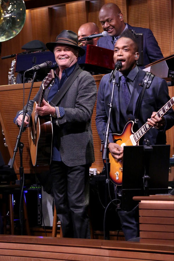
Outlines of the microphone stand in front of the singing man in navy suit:
[{"label": "microphone stand in front of the singing man in navy suit", "polygon": [[[109,137],[109,127],[110,127],[110,117],[111,117],[111,111],[113,107],[113,95],[114,95],[114,88],[116,84],[115,80],[115,74],[113,74],[113,88],[112,88],[112,95],[111,95],[111,102],[109,104],[109,116],[108,116],[108,122],[107,122],[107,128],[106,128],[106,135],[104,140],[104,150],[103,150],[103,156],[102,159],[106,160],[106,183],[105,183],[105,204],[107,206],[107,198],[108,198],[108,191],[109,191],[109,172],[110,172],[110,163],[109,163],[109,151],[108,151],[108,137]],[[107,186],[106,186],[107,185]],[[104,221],[106,224],[106,221]],[[104,229],[104,239],[109,240],[109,230]]]}]

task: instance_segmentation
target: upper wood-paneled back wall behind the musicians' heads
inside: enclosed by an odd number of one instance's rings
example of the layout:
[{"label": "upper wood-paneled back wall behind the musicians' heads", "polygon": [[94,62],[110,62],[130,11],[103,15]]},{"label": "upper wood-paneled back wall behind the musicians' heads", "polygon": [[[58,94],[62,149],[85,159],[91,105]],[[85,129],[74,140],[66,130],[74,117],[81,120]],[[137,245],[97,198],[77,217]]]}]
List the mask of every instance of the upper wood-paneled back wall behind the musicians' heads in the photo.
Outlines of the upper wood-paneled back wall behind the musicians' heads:
[{"label": "upper wood-paneled back wall behind the musicians' heads", "polygon": [[[95,22],[102,32],[98,13],[108,2],[120,7],[125,22],[132,26],[150,28],[164,57],[173,54],[173,0],[91,0],[26,10],[25,25],[17,36],[2,42],[1,57],[22,52],[21,46],[28,41],[55,41],[63,29],[77,33],[79,26],[88,21]],[[8,71],[13,59],[0,59],[0,85],[8,84]]]}]

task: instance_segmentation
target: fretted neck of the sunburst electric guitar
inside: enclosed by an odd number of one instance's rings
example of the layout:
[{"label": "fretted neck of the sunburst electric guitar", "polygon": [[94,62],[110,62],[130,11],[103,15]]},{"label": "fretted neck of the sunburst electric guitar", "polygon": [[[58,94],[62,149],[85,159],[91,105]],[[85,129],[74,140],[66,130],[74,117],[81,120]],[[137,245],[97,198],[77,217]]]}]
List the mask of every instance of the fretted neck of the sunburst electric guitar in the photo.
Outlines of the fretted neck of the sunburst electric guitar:
[{"label": "fretted neck of the sunburst electric guitar", "polygon": [[[174,105],[174,97],[172,97],[157,113],[158,118],[162,117],[172,106]],[[151,128],[146,122],[137,132],[133,134],[135,142],[138,142],[139,139]]]}]

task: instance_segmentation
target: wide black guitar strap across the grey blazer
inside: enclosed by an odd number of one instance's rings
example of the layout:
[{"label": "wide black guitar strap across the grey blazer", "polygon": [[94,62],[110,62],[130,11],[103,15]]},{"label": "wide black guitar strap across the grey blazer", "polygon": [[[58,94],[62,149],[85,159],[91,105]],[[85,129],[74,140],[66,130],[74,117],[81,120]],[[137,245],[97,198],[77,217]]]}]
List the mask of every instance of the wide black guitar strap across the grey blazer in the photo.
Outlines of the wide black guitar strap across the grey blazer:
[{"label": "wide black guitar strap across the grey blazer", "polygon": [[60,88],[59,92],[56,93],[55,97],[52,99],[52,101],[50,102],[51,106],[56,106],[58,104],[58,102],[61,100],[61,98],[65,95],[65,93],[67,92],[67,90],[70,88],[71,84],[75,81],[75,79],[77,78],[77,76],[83,71],[81,68],[76,69],[75,68],[75,72],[72,73],[68,79],[65,81],[64,83],[64,88]]}]

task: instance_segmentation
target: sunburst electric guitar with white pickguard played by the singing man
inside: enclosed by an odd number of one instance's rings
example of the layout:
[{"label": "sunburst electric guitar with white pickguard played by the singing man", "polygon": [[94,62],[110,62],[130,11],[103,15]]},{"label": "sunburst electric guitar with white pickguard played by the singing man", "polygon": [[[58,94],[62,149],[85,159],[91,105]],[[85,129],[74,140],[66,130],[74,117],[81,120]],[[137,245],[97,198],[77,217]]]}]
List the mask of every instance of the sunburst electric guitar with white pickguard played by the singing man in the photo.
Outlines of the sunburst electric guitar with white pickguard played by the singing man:
[{"label": "sunburst electric guitar with white pickguard played by the singing man", "polygon": [[[174,104],[174,97],[171,98],[156,114],[157,117],[162,117],[166,111],[168,111]],[[113,141],[119,144],[121,147],[124,146],[137,146],[139,145],[139,139],[151,128],[146,122],[137,132],[133,132],[134,122],[128,122],[122,134],[113,134]],[[115,185],[122,185],[122,172],[123,162],[120,160],[117,162],[112,155],[109,153],[110,162],[110,180]]]}]

